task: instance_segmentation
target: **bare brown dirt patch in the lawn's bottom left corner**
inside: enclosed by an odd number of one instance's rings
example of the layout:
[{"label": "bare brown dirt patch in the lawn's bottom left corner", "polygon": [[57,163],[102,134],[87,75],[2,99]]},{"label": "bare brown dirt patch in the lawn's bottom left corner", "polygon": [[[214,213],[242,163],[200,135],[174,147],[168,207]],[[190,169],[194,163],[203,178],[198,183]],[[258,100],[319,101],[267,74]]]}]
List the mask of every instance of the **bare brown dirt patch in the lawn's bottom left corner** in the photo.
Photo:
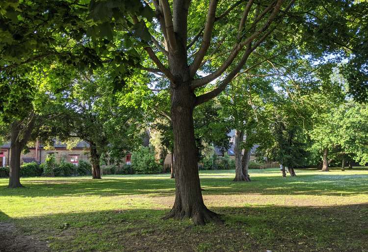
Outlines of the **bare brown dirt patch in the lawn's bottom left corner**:
[{"label": "bare brown dirt patch in the lawn's bottom left corner", "polygon": [[0,222],[0,252],[47,252],[51,251],[46,242],[33,235],[17,232],[13,223]]}]

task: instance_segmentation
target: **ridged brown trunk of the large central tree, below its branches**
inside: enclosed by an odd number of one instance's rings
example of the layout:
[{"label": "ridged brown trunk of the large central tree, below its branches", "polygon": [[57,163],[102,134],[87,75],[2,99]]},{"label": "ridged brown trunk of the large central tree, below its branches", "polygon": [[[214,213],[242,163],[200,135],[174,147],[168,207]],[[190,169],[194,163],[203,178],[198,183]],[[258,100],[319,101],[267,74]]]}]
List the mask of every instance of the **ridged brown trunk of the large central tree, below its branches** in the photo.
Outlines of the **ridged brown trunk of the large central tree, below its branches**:
[{"label": "ridged brown trunk of the large central tree, below its branches", "polygon": [[221,220],[205,206],[202,198],[193,126],[194,98],[184,80],[171,83],[176,190],[173,208],[164,219],[188,217],[195,225],[204,225],[208,221]]}]

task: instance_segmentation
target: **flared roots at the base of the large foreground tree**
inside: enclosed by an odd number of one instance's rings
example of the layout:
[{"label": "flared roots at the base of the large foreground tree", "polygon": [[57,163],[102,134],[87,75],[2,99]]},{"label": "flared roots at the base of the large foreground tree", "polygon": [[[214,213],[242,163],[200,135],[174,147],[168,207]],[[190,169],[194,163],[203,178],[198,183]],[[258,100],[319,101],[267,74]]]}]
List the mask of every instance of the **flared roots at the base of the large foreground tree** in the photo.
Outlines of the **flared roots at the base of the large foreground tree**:
[{"label": "flared roots at the base of the large foreground tree", "polygon": [[194,225],[203,226],[206,223],[223,224],[224,222],[220,218],[220,214],[210,211],[206,206],[202,206],[200,210],[193,210],[185,212],[183,209],[176,209],[173,207],[171,211],[164,216],[163,220],[171,218],[183,220],[184,218],[191,218]]}]

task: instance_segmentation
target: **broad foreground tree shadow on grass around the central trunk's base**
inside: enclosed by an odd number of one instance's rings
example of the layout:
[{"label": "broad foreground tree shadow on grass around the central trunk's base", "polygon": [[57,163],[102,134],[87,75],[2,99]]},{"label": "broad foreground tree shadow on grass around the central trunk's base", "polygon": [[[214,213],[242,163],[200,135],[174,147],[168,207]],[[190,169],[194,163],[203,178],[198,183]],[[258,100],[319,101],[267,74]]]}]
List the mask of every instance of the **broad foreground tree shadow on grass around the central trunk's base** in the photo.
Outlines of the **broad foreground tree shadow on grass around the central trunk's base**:
[{"label": "broad foreground tree shadow on grass around the central trunk's base", "polygon": [[16,219],[55,251],[364,251],[368,204],[217,207],[225,224],[193,226],[168,209],[116,209]]}]

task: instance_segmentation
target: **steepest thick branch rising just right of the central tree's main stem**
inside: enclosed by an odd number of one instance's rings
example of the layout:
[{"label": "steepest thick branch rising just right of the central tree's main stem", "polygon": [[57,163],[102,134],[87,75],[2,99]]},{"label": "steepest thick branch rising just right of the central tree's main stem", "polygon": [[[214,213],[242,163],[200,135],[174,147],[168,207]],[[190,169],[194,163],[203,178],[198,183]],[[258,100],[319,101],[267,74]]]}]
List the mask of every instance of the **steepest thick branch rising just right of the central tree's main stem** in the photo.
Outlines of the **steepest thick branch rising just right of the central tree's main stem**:
[{"label": "steepest thick branch rising just right of the central tree's main stem", "polygon": [[207,20],[205,24],[205,29],[203,31],[203,39],[198,53],[195,55],[193,63],[189,66],[190,76],[194,76],[197,72],[201,62],[206,55],[208,48],[210,47],[212,29],[216,16],[216,7],[218,0],[210,0],[210,6],[207,13]]}]

